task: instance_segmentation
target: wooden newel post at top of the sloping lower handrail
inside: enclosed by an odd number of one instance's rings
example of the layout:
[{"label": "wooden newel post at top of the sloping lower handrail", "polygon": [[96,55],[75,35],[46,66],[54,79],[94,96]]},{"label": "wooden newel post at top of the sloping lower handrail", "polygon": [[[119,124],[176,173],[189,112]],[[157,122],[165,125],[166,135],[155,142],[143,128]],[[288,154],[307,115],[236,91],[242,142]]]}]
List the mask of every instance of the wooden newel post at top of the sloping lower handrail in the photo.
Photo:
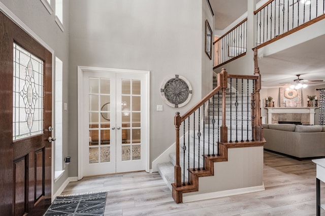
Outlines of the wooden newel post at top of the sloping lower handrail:
[{"label": "wooden newel post at top of the sloping lower handrail", "polygon": [[225,123],[225,90],[228,87],[228,74],[225,68],[221,69],[221,89],[222,89],[222,123],[220,127],[220,141],[228,142],[228,127]]}]

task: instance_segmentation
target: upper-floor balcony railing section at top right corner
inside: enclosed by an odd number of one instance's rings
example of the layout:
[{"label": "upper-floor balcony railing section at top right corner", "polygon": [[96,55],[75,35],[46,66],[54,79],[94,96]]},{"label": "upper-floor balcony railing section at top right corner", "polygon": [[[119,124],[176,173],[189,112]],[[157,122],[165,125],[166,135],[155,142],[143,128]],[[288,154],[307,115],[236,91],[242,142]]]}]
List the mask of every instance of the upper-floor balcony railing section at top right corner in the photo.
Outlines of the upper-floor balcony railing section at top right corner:
[{"label": "upper-floor balcony railing section at top right corner", "polygon": [[325,0],[272,0],[254,11],[256,47],[266,46],[325,18]]}]

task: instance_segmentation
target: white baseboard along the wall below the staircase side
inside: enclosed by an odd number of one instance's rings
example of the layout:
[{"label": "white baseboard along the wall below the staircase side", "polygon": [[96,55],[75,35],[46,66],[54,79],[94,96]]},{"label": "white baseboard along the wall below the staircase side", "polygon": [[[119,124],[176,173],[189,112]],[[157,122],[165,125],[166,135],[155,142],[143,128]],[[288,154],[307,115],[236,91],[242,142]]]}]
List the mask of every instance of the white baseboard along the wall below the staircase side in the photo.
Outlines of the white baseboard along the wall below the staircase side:
[{"label": "white baseboard along the wall below the staircase side", "polygon": [[234,196],[239,194],[248,194],[248,193],[259,192],[259,191],[265,191],[264,183],[261,186],[239,188],[239,189],[218,191],[218,192],[205,193],[205,194],[196,194],[196,195],[187,195],[187,196],[183,194],[183,203],[214,199],[219,197],[228,197],[228,196]]}]

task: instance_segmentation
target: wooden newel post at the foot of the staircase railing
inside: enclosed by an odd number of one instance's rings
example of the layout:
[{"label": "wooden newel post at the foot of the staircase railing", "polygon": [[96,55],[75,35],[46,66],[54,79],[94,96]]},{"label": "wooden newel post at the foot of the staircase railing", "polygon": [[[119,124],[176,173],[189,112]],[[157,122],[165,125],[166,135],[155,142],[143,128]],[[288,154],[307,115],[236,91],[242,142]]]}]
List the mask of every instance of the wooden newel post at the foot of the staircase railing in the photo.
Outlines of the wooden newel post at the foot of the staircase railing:
[{"label": "wooden newel post at the foot of the staircase railing", "polygon": [[174,125],[176,129],[176,164],[174,167],[174,178],[175,178],[175,186],[181,187],[181,179],[182,179],[182,170],[179,163],[179,127],[181,125],[181,117],[179,112],[176,112],[174,117]]}]

